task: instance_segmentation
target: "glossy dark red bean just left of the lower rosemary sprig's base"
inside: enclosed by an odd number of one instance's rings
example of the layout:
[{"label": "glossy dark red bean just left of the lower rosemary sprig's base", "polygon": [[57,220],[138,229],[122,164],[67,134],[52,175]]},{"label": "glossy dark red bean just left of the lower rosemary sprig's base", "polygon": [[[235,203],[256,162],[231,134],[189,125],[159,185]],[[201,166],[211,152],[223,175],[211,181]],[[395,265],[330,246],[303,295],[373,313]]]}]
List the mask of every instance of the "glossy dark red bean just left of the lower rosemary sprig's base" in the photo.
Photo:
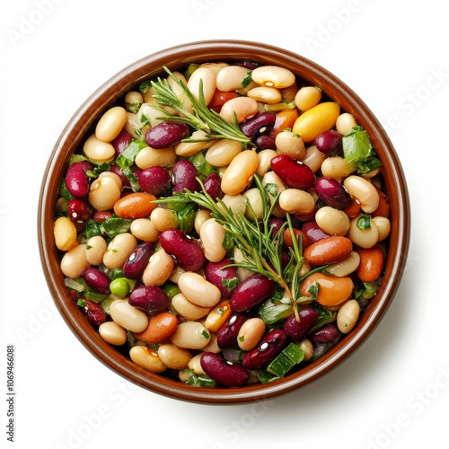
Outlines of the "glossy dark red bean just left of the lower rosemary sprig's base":
[{"label": "glossy dark red bean just left of the lower rosemary sprig's base", "polygon": [[243,312],[263,303],[275,292],[276,284],[263,275],[253,275],[233,289],[230,305],[233,311]]}]

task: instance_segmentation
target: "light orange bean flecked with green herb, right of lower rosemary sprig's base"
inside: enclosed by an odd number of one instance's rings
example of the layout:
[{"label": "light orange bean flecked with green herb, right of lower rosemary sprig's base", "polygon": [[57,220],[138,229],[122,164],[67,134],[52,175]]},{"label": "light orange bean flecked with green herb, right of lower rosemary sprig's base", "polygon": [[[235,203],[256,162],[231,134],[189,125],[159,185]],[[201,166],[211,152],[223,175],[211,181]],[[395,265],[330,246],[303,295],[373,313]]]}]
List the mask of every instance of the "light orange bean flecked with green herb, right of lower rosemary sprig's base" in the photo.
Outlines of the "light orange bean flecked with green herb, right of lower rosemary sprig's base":
[{"label": "light orange bean flecked with green herb, right of lower rosemary sprig's base", "polygon": [[311,296],[309,288],[315,283],[320,285],[316,300],[325,306],[338,305],[345,302],[352,295],[354,288],[354,283],[350,277],[332,277],[322,273],[313,273],[306,277],[301,284],[301,294]]}]

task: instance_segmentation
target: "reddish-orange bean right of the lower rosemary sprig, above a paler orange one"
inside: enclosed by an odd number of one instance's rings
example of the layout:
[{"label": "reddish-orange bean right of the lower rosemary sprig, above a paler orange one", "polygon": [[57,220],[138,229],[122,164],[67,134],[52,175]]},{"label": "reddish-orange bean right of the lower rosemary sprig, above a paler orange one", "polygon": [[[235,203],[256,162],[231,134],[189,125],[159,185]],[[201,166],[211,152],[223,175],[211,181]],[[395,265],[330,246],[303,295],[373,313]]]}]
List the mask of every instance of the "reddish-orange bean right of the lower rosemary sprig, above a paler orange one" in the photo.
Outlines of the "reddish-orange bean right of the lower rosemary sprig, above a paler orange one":
[{"label": "reddish-orange bean right of the lower rosemary sprig, above a paler orange one", "polygon": [[326,265],[345,259],[351,251],[352,242],[347,237],[332,235],[306,248],[304,259],[312,265]]}]

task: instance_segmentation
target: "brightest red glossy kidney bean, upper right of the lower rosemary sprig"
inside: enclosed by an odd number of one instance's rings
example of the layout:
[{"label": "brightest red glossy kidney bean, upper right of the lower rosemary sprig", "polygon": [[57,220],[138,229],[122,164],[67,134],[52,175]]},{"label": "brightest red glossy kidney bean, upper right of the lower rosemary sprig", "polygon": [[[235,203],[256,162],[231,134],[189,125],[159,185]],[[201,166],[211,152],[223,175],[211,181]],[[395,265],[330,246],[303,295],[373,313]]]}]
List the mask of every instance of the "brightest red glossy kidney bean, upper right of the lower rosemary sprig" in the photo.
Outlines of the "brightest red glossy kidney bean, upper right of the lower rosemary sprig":
[{"label": "brightest red glossy kidney bean, upper right of the lower rosemary sprig", "polygon": [[305,163],[297,161],[288,154],[279,154],[273,157],[271,168],[292,189],[308,190],[313,188],[315,175],[312,170]]}]

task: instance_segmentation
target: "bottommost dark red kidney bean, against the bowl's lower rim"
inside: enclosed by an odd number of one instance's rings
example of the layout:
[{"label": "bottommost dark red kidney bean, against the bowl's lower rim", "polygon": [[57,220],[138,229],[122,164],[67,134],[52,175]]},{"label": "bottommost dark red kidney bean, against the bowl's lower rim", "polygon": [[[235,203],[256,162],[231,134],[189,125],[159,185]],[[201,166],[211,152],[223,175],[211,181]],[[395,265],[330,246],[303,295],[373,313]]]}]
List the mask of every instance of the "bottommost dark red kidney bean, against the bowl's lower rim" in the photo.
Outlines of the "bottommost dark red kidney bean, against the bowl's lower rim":
[{"label": "bottommost dark red kidney bean, against the bowl's lower rim", "polygon": [[203,371],[216,383],[225,387],[242,387],[250,379],[250,374],[242,367],[226,362],[213,352],[204,352],[200,359]]}]

